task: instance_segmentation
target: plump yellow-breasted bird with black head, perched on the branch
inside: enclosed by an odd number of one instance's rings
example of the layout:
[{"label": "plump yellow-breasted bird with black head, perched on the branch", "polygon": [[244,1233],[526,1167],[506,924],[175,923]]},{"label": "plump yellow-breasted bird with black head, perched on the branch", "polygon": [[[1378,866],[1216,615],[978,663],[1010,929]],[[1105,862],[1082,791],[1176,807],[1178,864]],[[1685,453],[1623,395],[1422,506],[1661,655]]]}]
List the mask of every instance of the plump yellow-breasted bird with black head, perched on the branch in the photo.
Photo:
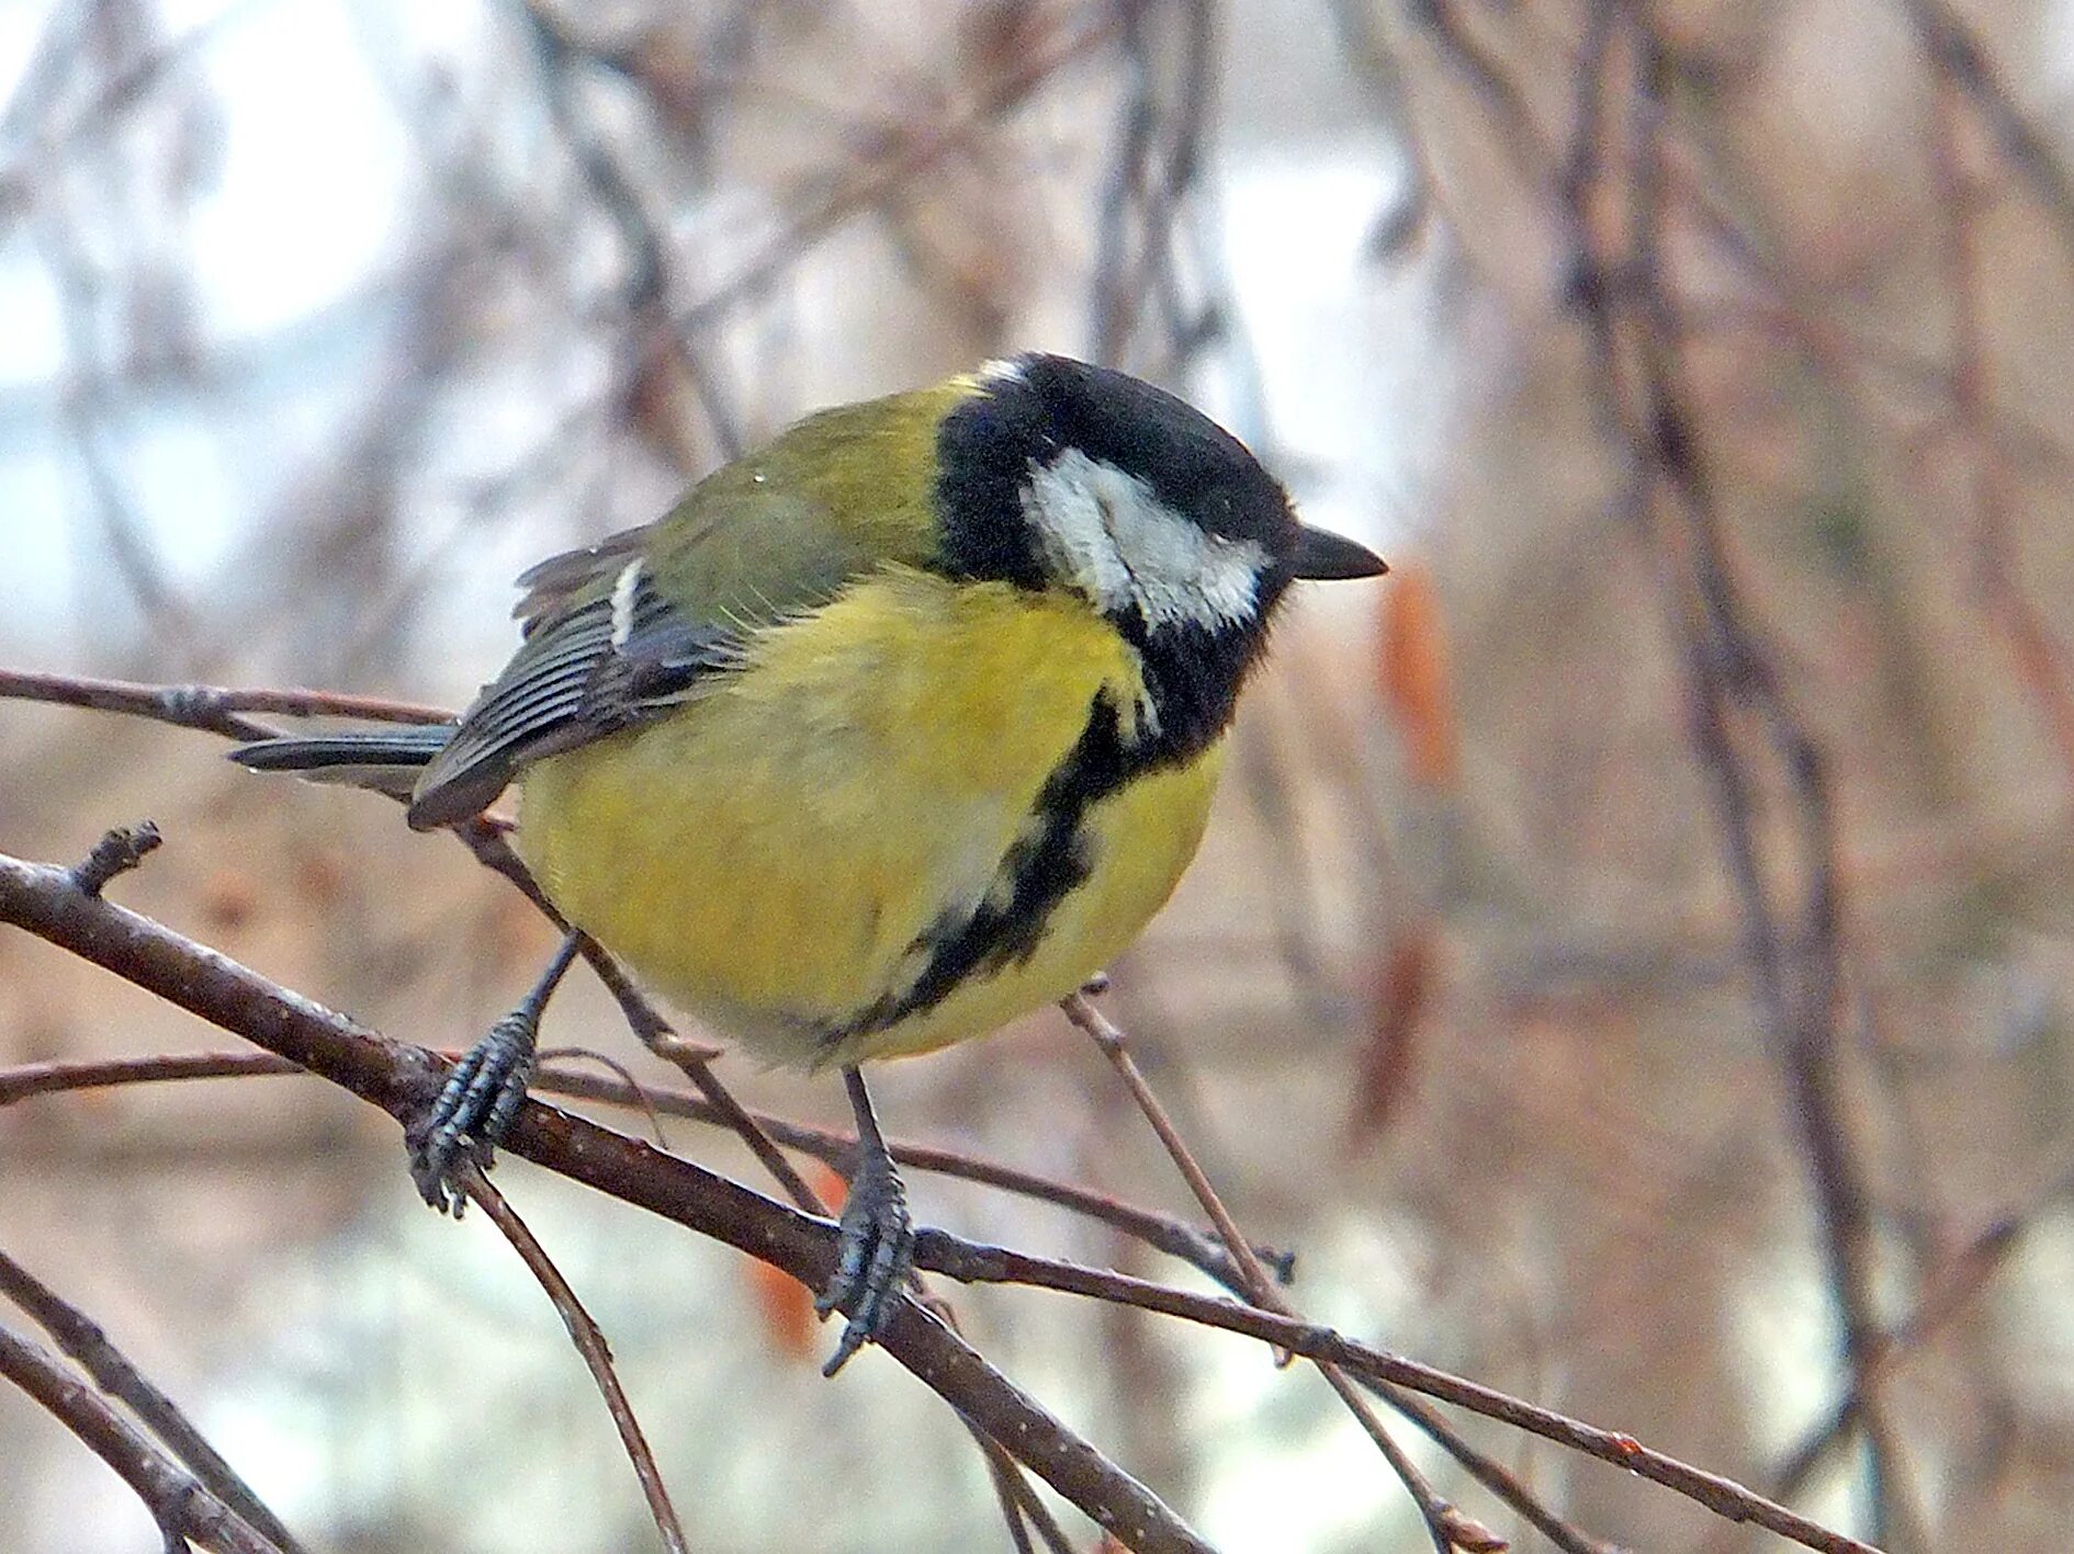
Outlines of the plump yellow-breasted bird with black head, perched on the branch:
[{"label": "plump yellow-breasted bird with black head, perched on the branch", "polygon": [[[1379,572],[1184,402],[1027,354],[821,410],[541,562],[458,723],[232,754],[407,794],[419,829],[518,783],[518,852],[574,930],[751,1053],[842,1071],[834,1372],[913,1245],[859,1065],[981,1036],[1122,951],[1195,856],[1290,580]],[[516,1115],[577,947],[450,1077],[415,1144],[427,1202]]]}]

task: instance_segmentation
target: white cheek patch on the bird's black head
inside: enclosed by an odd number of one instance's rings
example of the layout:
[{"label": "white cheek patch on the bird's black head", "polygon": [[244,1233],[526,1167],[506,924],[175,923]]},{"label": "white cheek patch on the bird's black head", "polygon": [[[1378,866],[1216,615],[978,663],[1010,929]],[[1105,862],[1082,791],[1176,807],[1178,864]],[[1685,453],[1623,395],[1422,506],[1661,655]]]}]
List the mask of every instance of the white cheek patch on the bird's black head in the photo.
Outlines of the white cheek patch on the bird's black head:
[{"label": "white cheek patch on the bird's black head", "polygon": [[1145,481],[1068,448],[1031,474],[1022,514],[1052,572],[1103,611],[1217,630],[1253,620],[1267,551],[1174,512]]}]

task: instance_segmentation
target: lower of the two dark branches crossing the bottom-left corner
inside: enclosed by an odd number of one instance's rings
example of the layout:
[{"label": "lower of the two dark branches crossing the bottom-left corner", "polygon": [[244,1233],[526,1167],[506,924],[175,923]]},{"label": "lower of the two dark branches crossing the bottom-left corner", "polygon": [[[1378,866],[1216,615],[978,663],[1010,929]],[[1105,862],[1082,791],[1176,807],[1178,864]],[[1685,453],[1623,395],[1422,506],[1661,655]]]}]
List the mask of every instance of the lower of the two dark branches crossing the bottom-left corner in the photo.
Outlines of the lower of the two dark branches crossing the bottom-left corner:
[{"label": "lower of the two dark branches crossing the bottom-left corner", "polygon": [[183,1554],[189,1544],[199,1544],[209,1554],[286,1554],[116,1413],[56,1355],[4,1326],[0,1376],[41,1403],[137,1492],[158,1523],[166,1554]]}]

